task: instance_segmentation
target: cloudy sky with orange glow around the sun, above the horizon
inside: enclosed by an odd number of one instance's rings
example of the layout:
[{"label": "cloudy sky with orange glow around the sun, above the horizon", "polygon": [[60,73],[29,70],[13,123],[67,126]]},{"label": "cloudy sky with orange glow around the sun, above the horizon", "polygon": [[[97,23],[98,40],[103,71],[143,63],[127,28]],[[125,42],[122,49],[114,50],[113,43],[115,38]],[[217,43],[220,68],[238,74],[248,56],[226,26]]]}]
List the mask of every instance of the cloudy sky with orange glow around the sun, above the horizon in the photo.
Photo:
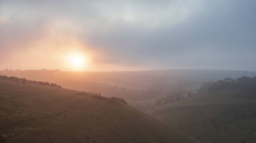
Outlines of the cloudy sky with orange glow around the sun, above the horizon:
[{"label": "cloudy sky with orange glow around the sun, above the horizon", "polygon": [[0,69],[256,70],[254,0],[0,0]]}]

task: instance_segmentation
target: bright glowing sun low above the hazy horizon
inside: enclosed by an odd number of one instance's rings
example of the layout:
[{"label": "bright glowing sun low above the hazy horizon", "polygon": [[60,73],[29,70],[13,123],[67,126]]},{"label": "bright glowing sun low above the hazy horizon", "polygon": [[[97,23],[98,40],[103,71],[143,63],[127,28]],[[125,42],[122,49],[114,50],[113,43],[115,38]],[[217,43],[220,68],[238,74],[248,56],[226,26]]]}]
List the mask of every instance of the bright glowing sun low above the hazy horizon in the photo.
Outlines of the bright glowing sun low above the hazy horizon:
[{"label": "bright glowing sun low above the hazy horizon", "polygon": [[88,64],[86,55],[81,52],[71,52],[67,54],[67,62],[71,70],[84,70]]}]

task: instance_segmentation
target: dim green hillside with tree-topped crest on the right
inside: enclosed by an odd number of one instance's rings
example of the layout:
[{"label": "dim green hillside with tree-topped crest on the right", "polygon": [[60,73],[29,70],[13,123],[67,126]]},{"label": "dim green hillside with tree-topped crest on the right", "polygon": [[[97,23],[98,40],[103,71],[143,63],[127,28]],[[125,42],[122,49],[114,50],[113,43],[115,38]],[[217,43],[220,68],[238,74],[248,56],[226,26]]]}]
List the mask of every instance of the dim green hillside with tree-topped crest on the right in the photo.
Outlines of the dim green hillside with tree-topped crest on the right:
[{"label": "dim green hillside with tree-topped crest on the right", "polygon": [[205,83],[153,115],[204,142],[256,142],[256,77]]}]

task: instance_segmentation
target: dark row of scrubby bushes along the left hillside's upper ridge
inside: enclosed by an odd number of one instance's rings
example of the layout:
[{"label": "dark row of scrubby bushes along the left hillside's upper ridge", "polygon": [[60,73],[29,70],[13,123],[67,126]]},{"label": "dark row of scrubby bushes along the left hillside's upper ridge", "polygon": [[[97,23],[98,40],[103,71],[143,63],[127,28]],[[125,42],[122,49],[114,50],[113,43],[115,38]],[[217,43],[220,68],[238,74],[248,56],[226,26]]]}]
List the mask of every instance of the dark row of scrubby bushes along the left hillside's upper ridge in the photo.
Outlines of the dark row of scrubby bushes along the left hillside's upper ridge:
[{"label": "dark row of scrubby bushes along the left hillside's upper ridge", "polygon": [[36,85],[46,85],[46,86],[61,88],[61,85],[57,85],[56,83],[49,83],[49,82],[42,82],[42,81],[31,81],[31,80],[27,80],[25,78],[18,78],[18,77],[13,77],[13,76],[12,77],[7,77],[5,75],[0,75],[0,79],[1,80],[14,81],[16,83],[22,83],[22,84],[34,83]]}]

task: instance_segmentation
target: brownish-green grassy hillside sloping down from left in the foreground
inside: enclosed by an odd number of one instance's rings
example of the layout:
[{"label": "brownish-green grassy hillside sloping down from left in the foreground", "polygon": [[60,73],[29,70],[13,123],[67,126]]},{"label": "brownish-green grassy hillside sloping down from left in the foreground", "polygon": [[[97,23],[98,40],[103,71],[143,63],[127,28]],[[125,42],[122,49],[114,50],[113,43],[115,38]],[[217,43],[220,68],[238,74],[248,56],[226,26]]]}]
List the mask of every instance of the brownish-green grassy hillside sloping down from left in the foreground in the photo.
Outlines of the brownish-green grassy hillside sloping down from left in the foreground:
[{"label": "brownish-green grassy hillside sloping down from left in the foreground", "polygon": [[0,79],[0,142],[199,142],[123,100]]}]

